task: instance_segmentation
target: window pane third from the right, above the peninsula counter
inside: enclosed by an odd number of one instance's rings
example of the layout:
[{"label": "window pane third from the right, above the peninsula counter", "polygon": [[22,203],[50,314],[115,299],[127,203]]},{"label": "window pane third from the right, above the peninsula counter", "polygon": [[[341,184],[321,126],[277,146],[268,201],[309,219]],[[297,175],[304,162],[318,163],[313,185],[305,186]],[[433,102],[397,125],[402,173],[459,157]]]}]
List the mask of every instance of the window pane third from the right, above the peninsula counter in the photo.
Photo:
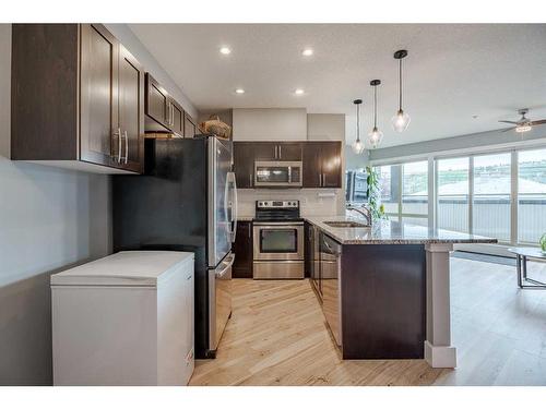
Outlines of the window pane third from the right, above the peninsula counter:
[{"label": "window pane third from the right, above the peninsula counter", "polygon": [[437,220],[440,229],[467,232],[470,158],[437,160]]}]

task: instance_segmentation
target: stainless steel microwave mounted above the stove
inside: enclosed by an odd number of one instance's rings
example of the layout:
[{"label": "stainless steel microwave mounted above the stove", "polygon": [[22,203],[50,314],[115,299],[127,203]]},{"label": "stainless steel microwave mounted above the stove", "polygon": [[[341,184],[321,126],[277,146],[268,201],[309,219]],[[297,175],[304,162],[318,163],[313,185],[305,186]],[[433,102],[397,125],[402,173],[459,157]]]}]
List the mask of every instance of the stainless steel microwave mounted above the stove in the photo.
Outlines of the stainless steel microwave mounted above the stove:
[{"label": "stainless steel microwave mounted above the stove", "polygon": [[301,188],[301,161],[254,161],[256,188]]}]

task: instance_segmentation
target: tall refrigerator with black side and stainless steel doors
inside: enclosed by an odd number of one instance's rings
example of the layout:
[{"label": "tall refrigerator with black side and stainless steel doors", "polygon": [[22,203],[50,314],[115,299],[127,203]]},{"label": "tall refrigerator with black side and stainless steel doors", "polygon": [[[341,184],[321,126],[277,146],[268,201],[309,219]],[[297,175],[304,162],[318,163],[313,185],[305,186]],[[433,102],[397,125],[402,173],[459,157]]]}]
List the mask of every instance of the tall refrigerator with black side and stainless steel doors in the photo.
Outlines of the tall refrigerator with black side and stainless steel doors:
[{"label": "tall refrigerator with black side and stainless steel doors", "polygon": [[112,181],[114,251],[195,253],[197,358],[215,357],[232,314],[232,143],[214,136],[146,140],[144,175]]}]

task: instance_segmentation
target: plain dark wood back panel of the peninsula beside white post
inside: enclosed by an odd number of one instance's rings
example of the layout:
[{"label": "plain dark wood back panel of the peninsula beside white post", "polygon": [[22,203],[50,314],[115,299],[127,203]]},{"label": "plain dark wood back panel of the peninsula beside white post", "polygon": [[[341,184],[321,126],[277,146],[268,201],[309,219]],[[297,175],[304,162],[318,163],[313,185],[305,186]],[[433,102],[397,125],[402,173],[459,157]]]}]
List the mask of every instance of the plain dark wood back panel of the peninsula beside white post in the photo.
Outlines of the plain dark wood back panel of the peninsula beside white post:
[{"label": "plain dark wood back panel of the peninsula beside white post", "polygon": [[343,245],[341,268],[343,359],[422,359],[424,245]]}]

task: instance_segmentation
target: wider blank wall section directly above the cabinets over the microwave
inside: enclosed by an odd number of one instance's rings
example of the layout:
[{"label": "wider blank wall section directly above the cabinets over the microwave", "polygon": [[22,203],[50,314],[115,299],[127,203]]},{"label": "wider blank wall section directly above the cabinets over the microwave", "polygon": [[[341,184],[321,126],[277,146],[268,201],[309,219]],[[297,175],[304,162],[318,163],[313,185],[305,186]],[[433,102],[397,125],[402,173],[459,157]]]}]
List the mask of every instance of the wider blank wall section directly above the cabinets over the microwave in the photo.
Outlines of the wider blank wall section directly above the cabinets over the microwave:
[{"label": "wider blank wall section directly above the cabinets over the microwave", "polygon": [[307,139],[305,108],[237,108],[234,141],[302,141]]}]

